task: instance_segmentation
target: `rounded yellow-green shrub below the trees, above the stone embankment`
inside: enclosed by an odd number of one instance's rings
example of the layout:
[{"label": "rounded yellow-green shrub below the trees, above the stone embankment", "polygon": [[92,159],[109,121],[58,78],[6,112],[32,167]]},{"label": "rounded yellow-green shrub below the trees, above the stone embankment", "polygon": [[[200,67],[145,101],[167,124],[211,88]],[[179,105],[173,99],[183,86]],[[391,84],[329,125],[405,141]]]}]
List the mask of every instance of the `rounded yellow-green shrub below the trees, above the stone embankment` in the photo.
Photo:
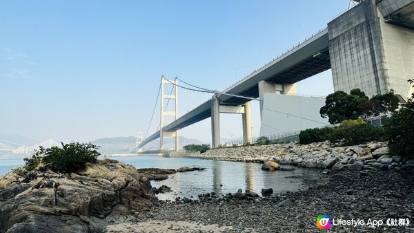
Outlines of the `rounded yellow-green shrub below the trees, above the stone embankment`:
[{"label": "rounded yellow-green shrub below the trees, above the stone embankment", "polygon": [[384,140],[384,129],[358,120],[344,120],[335,127],[331,142],[341,142],[342,145],[357,145],[373,140]]}]

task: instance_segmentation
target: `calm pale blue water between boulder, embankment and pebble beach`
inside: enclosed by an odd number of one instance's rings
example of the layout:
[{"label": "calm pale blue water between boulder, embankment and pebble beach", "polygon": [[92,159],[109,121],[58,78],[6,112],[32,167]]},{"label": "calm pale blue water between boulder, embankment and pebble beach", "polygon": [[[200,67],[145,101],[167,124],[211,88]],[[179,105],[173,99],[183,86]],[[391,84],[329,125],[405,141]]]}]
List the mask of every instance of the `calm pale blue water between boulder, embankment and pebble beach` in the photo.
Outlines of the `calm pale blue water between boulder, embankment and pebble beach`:
[{"label": "calm pale blue water between boulder, embankment and pebble beach", "polygon": [[[173,200],[177,196],[197,198],[198,194],[216,192],[227,194],[237,189],[250,189],[260,194],[262,188],[273,188],[274,192],[307,189],[324,183],[319,170],[301,169],[294,171],[262,171],[261,164],[200,160],[197,158],[163,158],[161,156],[112,157],[137,168],[157,167],[178,169],[179,167],[205,167],[204,171],[191,171],[170,175],[167,180],[151,181],[152,187],[167,185],[172,192],[159,194],[162,200]],[[10,169],[22,166],[22,159],[1,159],[0,176]],[[289,166],[282,166],[289,167]]]}]

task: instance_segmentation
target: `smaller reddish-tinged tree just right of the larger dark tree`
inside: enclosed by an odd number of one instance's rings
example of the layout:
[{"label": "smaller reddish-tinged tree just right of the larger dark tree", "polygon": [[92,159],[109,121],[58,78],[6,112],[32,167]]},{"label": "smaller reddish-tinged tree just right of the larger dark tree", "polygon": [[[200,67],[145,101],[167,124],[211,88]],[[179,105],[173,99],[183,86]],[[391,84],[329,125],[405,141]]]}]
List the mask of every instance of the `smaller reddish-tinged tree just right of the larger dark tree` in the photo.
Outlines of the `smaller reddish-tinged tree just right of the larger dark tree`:
[{"label": "smaller reddish-tinged tree just right of the larger dark tree", "polygon": [[399,104],[400,100],[397,96],[393,92],[388,92],[384,95],[374,95],[371,100],[359,104],[358,112],[364,118],[369,118],[382,113],[392,113],[398,108]]}]

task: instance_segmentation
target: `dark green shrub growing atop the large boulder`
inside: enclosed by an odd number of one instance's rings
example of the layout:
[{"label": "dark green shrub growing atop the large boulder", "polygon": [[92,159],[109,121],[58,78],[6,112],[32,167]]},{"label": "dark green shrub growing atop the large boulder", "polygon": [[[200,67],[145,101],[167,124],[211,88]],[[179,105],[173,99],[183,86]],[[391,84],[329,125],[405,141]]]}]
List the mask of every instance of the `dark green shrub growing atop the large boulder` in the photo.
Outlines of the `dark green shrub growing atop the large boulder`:
[{"label": "dark green shrub growing atop the large boulder", "polygon": [[28,170],[36,168],[40,162],[45,167],[56,172],[73,172],[83,169],[86,162],[95,163],[100,153],[97,151],[99,147],[91,143],[71,142],[63,144],[62,147],[40,147],[34,151],[32,158],[25,159]]}]

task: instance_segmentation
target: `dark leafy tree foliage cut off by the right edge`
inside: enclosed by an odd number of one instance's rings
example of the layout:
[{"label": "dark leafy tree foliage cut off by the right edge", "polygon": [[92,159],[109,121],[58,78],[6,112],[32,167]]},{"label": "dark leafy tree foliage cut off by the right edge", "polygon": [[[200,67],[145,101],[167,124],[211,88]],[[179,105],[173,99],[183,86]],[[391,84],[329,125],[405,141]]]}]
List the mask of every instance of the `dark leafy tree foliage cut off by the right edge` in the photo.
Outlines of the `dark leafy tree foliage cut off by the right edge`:
[{"label": "dark leafy tree foliage cut off by the right edge", "polygon": [[[408,80],[411,84],[414,80]],[[414,86],[413,86],[414,87]],[[414,93],[408,102],[395,111],[385,126],[390,152],[408,158],[414,157]]]}]

